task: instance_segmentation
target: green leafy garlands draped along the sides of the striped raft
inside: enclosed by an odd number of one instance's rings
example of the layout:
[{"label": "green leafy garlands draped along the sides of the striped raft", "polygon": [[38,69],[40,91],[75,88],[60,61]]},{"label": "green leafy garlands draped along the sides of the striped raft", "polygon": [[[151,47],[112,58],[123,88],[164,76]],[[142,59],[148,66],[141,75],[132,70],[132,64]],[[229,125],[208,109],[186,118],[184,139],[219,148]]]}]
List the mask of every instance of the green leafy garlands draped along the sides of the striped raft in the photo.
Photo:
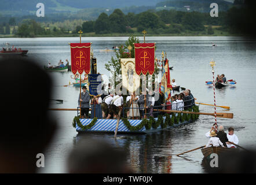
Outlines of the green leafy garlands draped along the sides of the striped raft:
[{"label": "green leafy garlands draped along the sides of the striped raft", "polygon": [[[198,106],[193,106],[192,109],[189,109],[188,111],[199,112],[199,108]],[[151,129],[151,127],[156,129],[159,127],[159,125],[161,125],[161,128],[166,128],[167,125],[171,127],[173,126],[173,124],[178,124],[179,122],[182,123],[184,121],[189,121],[189,120],[193,122],[198,119],[199,114],[182,114],[181,115],[181,113],[178,113],[178,115],[176,116],[176,113],[172,113],[172,114],[166,113],[164,114],[164,116],[166,117],[164,121],[163,121],[162,115],[158,115],[157,121],[152,116],[149,116],[149,119],[143,119],[141,123],[136,126],[131,125],[129,120],[127,120],[126,117],[122,117],[121,120],[123,121],[123,124],[125,124],[130,131],[138,131],[144,126],[147,130],[149,130]],[[89,125],[84,126],[80,122],[79,116],[75,116],[72,125],[75,128],[77,124],[78,127],[84,130],[84,129],[92,128],[93,125],[96,123],[96,121],[97,121],[97,117],[94,117],[94,119],[91,121]]]}]

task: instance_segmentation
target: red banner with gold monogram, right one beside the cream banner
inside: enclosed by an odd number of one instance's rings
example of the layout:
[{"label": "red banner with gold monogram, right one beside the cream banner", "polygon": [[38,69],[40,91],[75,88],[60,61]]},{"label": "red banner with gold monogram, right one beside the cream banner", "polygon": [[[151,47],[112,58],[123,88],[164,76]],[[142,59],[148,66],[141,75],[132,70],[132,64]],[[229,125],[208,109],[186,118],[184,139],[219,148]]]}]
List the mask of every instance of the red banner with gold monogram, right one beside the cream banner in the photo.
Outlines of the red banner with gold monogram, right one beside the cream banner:
[{"label": "red banner with gold monogram, right one beside the cream banner", "polygon": [[138,75],[153,75],[155,71],[155,43],[134,43],[135,70]]}]

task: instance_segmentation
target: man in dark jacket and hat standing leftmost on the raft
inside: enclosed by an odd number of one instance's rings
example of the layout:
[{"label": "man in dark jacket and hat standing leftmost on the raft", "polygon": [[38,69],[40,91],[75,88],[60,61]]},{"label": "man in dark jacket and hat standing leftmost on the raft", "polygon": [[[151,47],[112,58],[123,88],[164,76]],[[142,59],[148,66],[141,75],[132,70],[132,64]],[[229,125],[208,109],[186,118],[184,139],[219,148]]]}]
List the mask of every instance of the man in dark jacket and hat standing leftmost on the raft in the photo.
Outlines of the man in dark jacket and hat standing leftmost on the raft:
[{"label": "man in dark jacket and hat standing leftmost on the raft", "polygon": [[89,102],[90,102],[90,95],[89,93],[86,91],[87,88],[86,86],[82,87],[83,92],[82,97],[81,94],[79,94],[79,98],[78,98],[78,106],[80,106],[80,102],[81,103],[81,116],[82,118],[88,118],[88,114],[89,114]]}]

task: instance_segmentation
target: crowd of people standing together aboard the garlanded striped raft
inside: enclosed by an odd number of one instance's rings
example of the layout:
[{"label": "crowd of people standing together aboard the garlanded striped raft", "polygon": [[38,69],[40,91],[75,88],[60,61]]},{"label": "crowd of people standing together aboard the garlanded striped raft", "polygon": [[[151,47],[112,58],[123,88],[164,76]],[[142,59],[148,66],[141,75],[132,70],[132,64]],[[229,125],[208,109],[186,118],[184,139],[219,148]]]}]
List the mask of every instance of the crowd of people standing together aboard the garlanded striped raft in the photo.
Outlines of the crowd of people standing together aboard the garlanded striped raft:
[{"label": "crowd of people standing together aboard the garlanded striped raft", "polygon": [[164,114],[159,110],[188,110],[195,105],[195,98],[190,90],[186,89],[180,94],[175,94],[167,101],[164,99],[163,92],[147,90],[147,95],[136,95],[135,92],[131,95],[114,94],[110,92],[110,84],[108,84],[108,92],[103,90],[101,95],[90,96],[87,87],[82,87],[82,97],[79,94],[78,106],[81,104],[82,118],[89,117],[89,109],[91,108],[90,117],[98,119],[116,119],[118,118],[119,110],[121,117],[127,119],[143,119],[144,117],[158,117],[159,114]]}]

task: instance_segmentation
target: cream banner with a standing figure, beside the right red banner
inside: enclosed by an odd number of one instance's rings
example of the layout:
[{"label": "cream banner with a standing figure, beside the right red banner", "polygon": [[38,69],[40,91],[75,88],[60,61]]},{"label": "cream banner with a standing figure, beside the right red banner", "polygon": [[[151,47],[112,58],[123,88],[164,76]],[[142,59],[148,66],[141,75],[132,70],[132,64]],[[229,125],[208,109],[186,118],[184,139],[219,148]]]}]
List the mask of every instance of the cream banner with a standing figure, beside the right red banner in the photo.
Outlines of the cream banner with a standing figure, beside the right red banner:
[{"label": "cream banner with a standing figure, beside the right red banner", "polygon": [[[134,58],[120,58],[122,84],[129,92],[140,90],[140,76],[135,72]],[[138,91],[140,92],[140,91]]]}]

